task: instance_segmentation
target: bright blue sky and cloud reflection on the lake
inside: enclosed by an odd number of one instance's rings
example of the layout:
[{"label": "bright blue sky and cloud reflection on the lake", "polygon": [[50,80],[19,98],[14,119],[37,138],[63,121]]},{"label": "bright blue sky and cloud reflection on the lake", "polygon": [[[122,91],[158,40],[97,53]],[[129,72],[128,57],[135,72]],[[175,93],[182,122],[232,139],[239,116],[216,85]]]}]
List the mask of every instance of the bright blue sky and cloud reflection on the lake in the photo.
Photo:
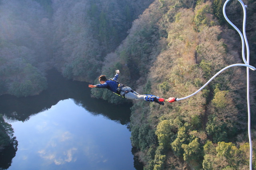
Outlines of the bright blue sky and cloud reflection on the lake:
[{"label": "bright blue sky and cloud reflection on the lake", "polygon": [[10,170],[134,169],[126,126],[94,116],[72,99],[11,125],[18,151]]}]

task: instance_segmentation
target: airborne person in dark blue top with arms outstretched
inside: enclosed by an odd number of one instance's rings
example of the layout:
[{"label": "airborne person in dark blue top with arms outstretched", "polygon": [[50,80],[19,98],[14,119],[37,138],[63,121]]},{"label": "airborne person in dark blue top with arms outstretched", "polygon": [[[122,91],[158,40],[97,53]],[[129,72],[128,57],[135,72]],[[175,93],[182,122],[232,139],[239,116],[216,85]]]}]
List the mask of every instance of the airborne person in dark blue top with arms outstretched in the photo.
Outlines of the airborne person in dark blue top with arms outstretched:
[{"label": "airborne person in dark blue top with arms outstretched", "polygon": [[118,75],[120,71],[116,70],[116,75],[112,79],[107,79],[106,75],[101,75],[99,77],[100,84],[97,85],[88,85],[90,88],[106,88],[117,95],[120,95],[121,97],[124,97],[126,99],[131,99],[131,100],[142,100],[142,101],[151,101],[151,102],[156,102],[160,105],[164,105],[164,101],[167,101],[163,98],[154,96],[154,95],[140,95],[136,91],[132,90],[130,87],[119,83],[117,81]]}]

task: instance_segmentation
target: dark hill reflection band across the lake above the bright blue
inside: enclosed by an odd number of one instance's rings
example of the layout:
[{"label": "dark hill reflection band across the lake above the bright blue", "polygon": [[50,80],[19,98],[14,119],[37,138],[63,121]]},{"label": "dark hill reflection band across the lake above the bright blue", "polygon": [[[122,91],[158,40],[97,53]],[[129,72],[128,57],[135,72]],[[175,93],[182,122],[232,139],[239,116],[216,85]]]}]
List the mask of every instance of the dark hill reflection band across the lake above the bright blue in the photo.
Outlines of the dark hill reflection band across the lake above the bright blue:
[{"label": "dark hill reflection band across the lake above the bright blue", "polygon": [[26,121],[30,115],[49,109],[61,100],[74,99],[92,113],[102,114],[122,125],[130,122],[131,104],[113,105],[104,100],[91,98],[88,83],[64,79],[55,70],[49,72],[47,79],[48,89],[40,95],[20,98],[1,95],[0,114],[13,120]]}]

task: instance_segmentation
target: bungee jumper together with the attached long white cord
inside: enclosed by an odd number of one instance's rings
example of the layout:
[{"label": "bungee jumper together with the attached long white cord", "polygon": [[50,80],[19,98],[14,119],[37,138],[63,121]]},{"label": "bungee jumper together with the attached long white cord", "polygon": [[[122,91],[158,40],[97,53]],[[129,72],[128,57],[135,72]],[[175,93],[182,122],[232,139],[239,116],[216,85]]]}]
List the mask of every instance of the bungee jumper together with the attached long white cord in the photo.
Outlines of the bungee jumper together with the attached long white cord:
[{"label": "bungee jumper together with the attached long white cord", "polygon": [[[247,72],[247,107],[248,107],[248,138],[249,138],[249,145],[250,145],[250,170],[252,170],[252,153],[253,153],[253,149],[252,149],[252,139],[251,139],[251,130],[250,130],[250,126],[251,126],[251,115],[250,115],[250,76],[249,76],[249,69],[255,71],[256,68],[253,67],[252,65],[249,64],[249,58],[250,58],[250,50],[249,50],[249,45],[248,45],[248,41],[246,38],[246,31],[245,31],[245,26],[246,26],[246,8],[247,6],[244,5],[244,3],[242,2],[242,0],[238,0],[240,2],[240,4],[242,5],[243,8],[243,12],[244,12],[244,18],[243,18],[243,34],[242,32],[240,32],[240,30],[228,19],[228,17],[226,16],[226,5],[230,0],[226,0],[226,2],[224,3],[223,6],[223,14],[224,14],[224,18],[226,19],[226,21],[238,32],[238,34],[240,35],[241,38],[241,42],[242,42],[242,59],[244,61],[244,63],[237,63],[237,64],[231,64],[228,65],[226,67],[224,67],[223,69],[221,69],[220,71],[218,71],[218,73],[216,73],[211,79],[209,79],[200,89],[198,89],[196,92],[183,97],[183,98],[175,98],[175,97],[170,97],[168,99],[164,99],[164,98],[160,98],[160,97],[156,97],[154,95],[140,95],[138,94],[136,91],[132,90],[130,87],[127,87],[126,85],[120,84],[118,83],[117,78],[118,78],[118,74],[119,74],[119,70],[116,71],[116,75],[113,79],[106,79],[105,75],[102,75],[99,77],[99,81],[100,84],[98,85],[89,85],[90,88],[94,88],[94,87],[98,87],[98,88],[107,88],[111,91],[113,91],[114,93],[125,97],[127,99],[135,99],[135,100],[145,100],[145,101],[154,101],[156,103],[159,103],[160,105],[164,105],[164,101],[168,101],[170,103],[173,103],[175,101],[180,101],[183,99],[187,99],[189,97],[192,97],[193,95],[196,95],[199,91],[201,91],[204,87],[206,87],[206,85],[208,85],[216,76],[218,76],[220,73],[222,73],[224,70],[230,68],[230,67],[235,67],[235,66],[243,66],[246,67],[246,72]],[[247,59],[245,58],[245,47],[246,46],[246,52],[247,52]]]}]

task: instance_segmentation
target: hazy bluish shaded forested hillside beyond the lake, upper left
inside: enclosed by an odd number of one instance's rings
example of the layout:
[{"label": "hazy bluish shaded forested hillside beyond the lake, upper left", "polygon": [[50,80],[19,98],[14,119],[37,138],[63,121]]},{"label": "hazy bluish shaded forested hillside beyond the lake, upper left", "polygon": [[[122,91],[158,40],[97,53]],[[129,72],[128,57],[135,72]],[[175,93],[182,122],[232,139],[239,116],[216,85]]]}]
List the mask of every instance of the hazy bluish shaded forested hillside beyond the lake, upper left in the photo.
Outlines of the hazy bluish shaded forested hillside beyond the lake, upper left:
[{"label": "hazy bluish shaded forested hillside beyond the lake, upper left", "polygon": [[1,0],[0,95],[36,95],[46,70],[92,81],[152,0]]}]

